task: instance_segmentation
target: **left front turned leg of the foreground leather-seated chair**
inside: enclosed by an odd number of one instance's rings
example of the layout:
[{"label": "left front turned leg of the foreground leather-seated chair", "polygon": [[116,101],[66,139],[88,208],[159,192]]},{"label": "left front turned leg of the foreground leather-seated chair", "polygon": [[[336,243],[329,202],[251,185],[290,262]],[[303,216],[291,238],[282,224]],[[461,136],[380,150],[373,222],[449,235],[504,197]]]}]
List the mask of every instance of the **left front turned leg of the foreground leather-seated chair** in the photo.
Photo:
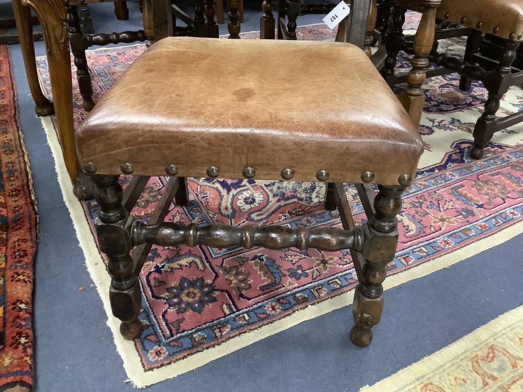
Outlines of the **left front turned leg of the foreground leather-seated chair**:
[{"label": "left front turned leg of the foreground leather-seated chair", "polygon": [[133,274],[133,260],[129,255],[132,246],[130,232],[134,219],[122,205],[119,176],[91,177],[96,184],[95,199],[100,206],[96,222],[98,245],[109,259],[109,299],[112,314],[122,321],[122,336],[127,340],[134,340],[143,330],[138,319],[142,306],[140,283]]}]

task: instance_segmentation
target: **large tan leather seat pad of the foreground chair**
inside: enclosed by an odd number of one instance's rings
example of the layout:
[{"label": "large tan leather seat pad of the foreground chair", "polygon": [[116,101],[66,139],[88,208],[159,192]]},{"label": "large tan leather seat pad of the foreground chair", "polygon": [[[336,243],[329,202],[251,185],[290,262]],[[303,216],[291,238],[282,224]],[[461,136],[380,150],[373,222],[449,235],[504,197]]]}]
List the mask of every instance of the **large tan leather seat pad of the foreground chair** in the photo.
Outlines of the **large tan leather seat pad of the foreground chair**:
[{"label": "large tan leather seat pad of the foreground chair", "polygon": [[423,144],[399,101],[357,47],[337,42],[166,38],[142,54],[77,134],[99,174],[361,182],[414,178]]}]

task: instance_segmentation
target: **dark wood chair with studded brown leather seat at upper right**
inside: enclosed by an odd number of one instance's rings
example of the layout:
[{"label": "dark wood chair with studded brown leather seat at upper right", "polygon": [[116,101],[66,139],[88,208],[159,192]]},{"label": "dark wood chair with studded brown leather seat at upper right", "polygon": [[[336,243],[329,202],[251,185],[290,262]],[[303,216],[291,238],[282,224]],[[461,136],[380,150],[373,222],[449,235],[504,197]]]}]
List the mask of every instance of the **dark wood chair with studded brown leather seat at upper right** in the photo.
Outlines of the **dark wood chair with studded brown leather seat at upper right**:
[{"label": "dark wood chair with studded brown leather seat at upper right", "polygon": [[[412,42],[402,33],[405,11],[407,9],[421,11],[422,3],[422,0],[396,0],[395,6],[391,8],[390,30],[386,40],[388,57],[382,70],[382,74],[391,85],[402,82],[401,79],[394,77],[397,53],[400,50],[412,53],[413,48]],[[431,72],[430,76],[457,72],[462,75],[461,89],[469,89],[471,80],[481,80],[488,91],[484,112],[474,127],[474,147],[470,152],[472,158],[479,159],[483,156],[484,147],[490,142],[495,132],[523,120],[523,111],[504,118],[496,117],[499,101],[508,88],[523,83],[523,72],[511,67],[516,58],[516,49],[523,39],[523,1],[468,0],[456,2],[442,0],[437,8],[436,16],[440,20],[440,26],[444,27],[436,32],[436,39],[467,36],[468,40],[464,61],[446,53],[439,53],[437,45],[434,45],[427,54],[427,59],[440,68]],[[503,42],[503,49],[497,62],[477,53],[482,34],[485,33],[493,34]],[[424,72],[422,68],[426,67],[428,62],[424,60],[421,64],[418,60],[414,57],[412,64],[416,73],[422,74]],[[421,84],[416,87],[414,93],[423,94]],[[419,119],[417,121],[419,122]]]}]

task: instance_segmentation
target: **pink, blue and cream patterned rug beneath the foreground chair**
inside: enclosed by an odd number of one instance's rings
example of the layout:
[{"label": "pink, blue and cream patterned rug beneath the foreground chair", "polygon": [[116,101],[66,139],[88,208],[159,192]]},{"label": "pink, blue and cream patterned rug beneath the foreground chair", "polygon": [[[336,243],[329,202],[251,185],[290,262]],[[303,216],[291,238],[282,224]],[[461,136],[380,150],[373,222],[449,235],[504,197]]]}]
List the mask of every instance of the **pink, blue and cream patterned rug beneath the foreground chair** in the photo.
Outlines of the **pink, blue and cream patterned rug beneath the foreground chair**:
[{"label": "pink, blue and cream patterned rug beneath the foreground chair", "polygon": [[[408,20],[415,25],[416,15]],[[303,39],[334,38],[321,25],[298,30]],[[251,34],[249,37],[248,34]],[[247,33],[246,38],[256,38]],[[441,43],[448,52],[463,50],[463,41]],[[95,100],[104,94],[143,45],[88,51]],[[38,59],[42,83],[49,91],[45,57]],[[407,68],[400,58],[399,71]],[[389,288],[445,268],[501,244],[523,228],[523,145],[521,125],[498,132],[483,159],[470,159],[471,132],[483,108],[485,91],[474,84],[458,89],[456,75],[427,81],[427,105],[420,132],[426,151],[399,216],[397,257],[387,266]],[[523,105],[511,89],[501,112]],[[74,83],[75,124],[84,116]],[[97,205],[78,202],[60,156],[52,120],[43,119],[64,200],[85,251],[87,268],[108,312],[124,367],[137,386],[176,376],[299,322],[352,302],[357,280],[347,251],[207,247],[153,247],[140,276],[145,331],[134,342],[119,334],[112,317],[106,261],[96,247],[93,224]],[[129,177],[122,177],[126,186]],[[153,178],[134,209],[147,221],[166,179]],[[323,209],[323,183],[189,179],[190,205],[172,206],[167,219],[189,224],[282,224],[288,227],[341,227],[337,212]],[[346,186],[355,221],[364,219],[357,192]],[[350,312],[350,309],[347,309]],[[384,320],[385,322],[385,320]],[[378,337],[376,337],[378,338]]]}]

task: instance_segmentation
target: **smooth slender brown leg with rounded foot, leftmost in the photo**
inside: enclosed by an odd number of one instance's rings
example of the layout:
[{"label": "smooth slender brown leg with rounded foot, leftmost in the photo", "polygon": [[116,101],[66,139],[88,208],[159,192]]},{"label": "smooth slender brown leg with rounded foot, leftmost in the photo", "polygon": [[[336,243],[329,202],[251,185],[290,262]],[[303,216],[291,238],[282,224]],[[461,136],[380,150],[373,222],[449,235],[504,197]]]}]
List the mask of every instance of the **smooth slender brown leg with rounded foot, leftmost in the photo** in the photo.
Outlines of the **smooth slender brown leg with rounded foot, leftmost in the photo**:
[{"label": "smooth slender brown leg with rounded foot, leftmost in the photo", "polygon": [[35,112],[38,116],[49,116],[54,113],[53,102],[44,96],[40,83],[38,82],[38,71],[35,61],[35,42],[33,42],[31,10],[22,5],[20,0],[13,0],[13,11],[20,41],[24,66],[26,68],[27,82],[31,96],[35,101]]}]

